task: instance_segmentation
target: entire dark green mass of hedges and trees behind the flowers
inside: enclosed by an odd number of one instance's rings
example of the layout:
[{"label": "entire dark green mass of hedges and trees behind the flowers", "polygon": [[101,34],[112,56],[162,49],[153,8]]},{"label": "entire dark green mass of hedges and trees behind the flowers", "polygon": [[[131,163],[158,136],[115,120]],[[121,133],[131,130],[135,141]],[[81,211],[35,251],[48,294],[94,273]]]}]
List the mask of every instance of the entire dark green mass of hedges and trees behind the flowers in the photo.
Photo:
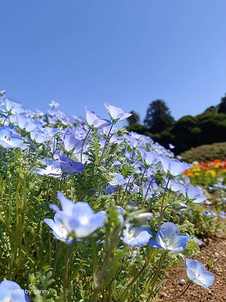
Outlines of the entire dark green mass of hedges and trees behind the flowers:
[{"label": "entire dark green mass of hedges and trees behind the flowers", "polygon": [[152,102],[147,110],[145,126],[133,124],[128,130],[151,136],[165,147],[175,145],[178,155],[191,147],[225,141],[226,97],[218,106],[207,108],[197,116],[186,115],[174,122],[165,102]]}]

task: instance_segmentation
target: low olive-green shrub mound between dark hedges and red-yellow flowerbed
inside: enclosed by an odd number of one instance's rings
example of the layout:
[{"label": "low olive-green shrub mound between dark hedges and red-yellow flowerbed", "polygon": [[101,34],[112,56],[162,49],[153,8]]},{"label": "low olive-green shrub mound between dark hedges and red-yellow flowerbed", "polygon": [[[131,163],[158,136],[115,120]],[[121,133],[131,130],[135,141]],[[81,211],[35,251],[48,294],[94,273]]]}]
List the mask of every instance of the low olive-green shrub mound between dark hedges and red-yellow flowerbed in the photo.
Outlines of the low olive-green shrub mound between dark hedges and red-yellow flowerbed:
[{"label": "low olive-green shrub mound between dark hedges and red-yellow flowerbed", "polygon": [[182,153],[180,155],[184,161],[214,161],[215,159],[226,159],[226,142],[201,145]]}]

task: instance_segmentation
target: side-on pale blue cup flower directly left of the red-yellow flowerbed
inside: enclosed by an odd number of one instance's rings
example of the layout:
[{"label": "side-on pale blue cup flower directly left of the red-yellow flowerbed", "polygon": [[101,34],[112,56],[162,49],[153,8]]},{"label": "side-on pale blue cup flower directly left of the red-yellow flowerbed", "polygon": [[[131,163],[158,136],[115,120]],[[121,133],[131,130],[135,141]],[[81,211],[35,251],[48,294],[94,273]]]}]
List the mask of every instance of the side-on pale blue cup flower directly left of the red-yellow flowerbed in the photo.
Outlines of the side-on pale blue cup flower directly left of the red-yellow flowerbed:
[{"label": "side-on pale blue cup flower directly left of the red-yellow flowerbed", "polygon": [[169,159],[166,156],[160,156],[159,159],[162,164],[163,170],[166,173],[170,173],[172,176],[180,175],[184,173],[184,171],[192,167],[192,165],[181,163],[176,159]]}]

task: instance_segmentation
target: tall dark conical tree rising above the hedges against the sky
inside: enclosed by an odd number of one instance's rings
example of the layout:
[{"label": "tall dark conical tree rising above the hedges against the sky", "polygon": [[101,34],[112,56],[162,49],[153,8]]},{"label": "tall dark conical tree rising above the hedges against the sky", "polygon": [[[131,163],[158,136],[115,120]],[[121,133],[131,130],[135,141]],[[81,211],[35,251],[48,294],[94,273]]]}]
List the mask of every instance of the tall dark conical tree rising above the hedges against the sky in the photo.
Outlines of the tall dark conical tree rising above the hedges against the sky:
[{"label": "tall dark conical tree rising above the hedges against the sky", "polygon": [[160,133],[172,126],[173,122],[174,119],[164,101],[156,100],[149,104],[144,123],[151,133]]}]

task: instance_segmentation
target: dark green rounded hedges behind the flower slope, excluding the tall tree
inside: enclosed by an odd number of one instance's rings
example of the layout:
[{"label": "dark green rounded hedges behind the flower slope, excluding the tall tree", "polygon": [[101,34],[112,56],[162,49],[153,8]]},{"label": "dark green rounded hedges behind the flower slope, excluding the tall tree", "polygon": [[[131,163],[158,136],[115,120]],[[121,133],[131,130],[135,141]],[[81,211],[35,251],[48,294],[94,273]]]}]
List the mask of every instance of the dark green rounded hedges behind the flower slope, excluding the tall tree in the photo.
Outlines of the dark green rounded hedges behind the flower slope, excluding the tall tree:
[{"label": "dark green rounded hedges behind the flower slope, excluding the tall tree", "polygon": [[197,117],[186,115],[173,126],[155,134],[148,132],[148,128],[140,124],[134,124],[128,130],[149,135],[167,148],[172,143],[175,145],[173,152],[178,155],[192,147],[225,141],[226,114],[204,114]]}]

